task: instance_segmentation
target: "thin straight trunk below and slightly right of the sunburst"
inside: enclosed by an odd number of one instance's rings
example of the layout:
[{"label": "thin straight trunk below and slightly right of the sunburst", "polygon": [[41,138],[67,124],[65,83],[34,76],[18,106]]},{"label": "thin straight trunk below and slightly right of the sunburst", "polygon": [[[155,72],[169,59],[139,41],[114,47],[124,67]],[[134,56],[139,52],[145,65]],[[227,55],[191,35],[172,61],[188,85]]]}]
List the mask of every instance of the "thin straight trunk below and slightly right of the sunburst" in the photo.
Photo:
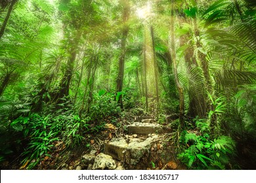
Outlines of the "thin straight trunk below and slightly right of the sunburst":
[{"label": "thin straight trunk below and slightly right of the sunburst", "polygon": [[150,26],[150,34],[151,34],[151,40],[152,40],[152,51],[153,51],[153,59],[154,59],[154,74],[155,74],[155,82],[156,82],[156,110],[158,113],[159,112],[158,63],[156,60],[155,38],[154,38],[153,26]]}]

